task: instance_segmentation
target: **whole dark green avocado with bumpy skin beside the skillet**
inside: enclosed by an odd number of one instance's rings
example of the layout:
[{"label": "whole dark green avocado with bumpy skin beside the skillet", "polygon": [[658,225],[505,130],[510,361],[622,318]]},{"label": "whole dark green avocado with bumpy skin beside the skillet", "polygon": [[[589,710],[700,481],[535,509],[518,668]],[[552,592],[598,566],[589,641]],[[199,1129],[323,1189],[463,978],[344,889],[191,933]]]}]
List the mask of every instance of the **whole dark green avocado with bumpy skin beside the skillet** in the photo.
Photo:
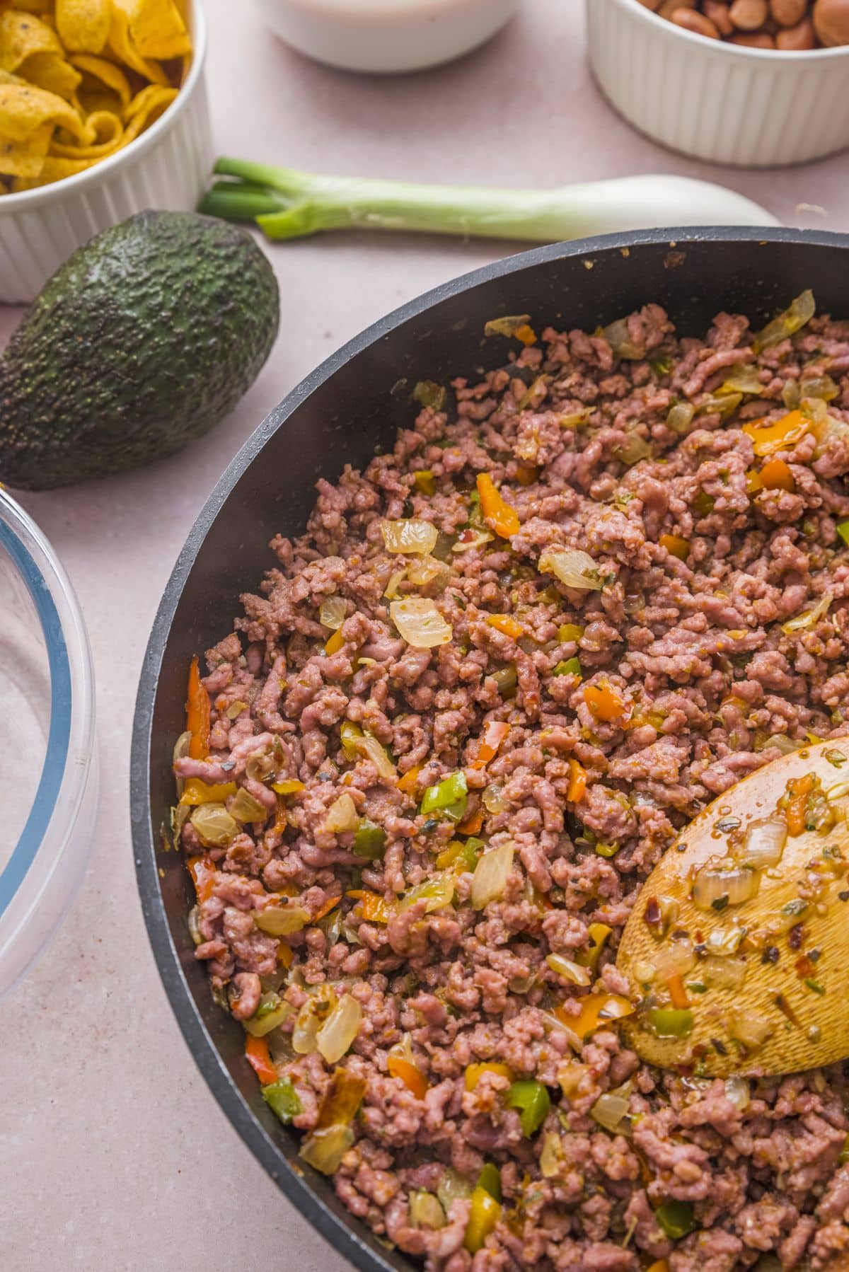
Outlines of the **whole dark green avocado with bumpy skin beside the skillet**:
[{"label": "whole dark green avocado with bumpy skin beside the skillet", "polygon": [[0,481],[126,472],[213,429],[277,333],[277,282],[244,230],[141,212],[46,284],[0,359]]}]

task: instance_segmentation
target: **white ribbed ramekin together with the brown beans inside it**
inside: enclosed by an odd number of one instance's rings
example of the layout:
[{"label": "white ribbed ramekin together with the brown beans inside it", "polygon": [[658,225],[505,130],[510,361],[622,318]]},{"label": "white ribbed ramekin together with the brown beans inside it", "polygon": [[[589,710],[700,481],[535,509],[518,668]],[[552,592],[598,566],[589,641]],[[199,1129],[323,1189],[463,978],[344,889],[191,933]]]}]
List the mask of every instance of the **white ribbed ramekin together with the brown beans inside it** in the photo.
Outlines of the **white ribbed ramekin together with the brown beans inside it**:
[{"label": "white ribbed ramekin together with the brown beans inside it", "polygon": [[849,0],[587,0],[587,23],[607,100],[672,150],[770,168],[849,146]]}]

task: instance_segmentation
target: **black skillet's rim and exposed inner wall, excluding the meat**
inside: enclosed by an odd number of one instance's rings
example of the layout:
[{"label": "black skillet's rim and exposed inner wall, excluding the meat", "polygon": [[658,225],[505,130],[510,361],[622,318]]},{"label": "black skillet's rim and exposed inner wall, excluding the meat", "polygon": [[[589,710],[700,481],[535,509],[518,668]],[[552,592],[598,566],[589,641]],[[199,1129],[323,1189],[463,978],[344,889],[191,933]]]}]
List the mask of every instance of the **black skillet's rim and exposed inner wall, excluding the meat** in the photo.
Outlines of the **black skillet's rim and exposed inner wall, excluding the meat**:
[{"label": "black skillet's rim and exposed inner wall, excluding the meat", "polygon": [[456,279],[374,323],[293,389],[246,441],[179,553],[148,645],[132,733],[132,842],[150,944],[215,1099],[286,1197],[364,1272],[412,1264],[298,1161],[298,1135],[266,1108],[243,1058],[242,1027],[213,1002],[193,958],[191,883],[160,834],[190,659],[232,630],[239,593],[274,563],[269,539],[303,529],[316,480],[333,481],[346,463],[364,467],[410,424],[416,380],[444,383],[507,361],[513,342],[485,340],[489,318],[527,313],[537,331],[592,329],[654,300],[680,333],[701,335],[720,309],[759,323],[804,287],[821,310],[849,317],[848,248],[846,235],[799,230],[650,230],[555,243]]}]

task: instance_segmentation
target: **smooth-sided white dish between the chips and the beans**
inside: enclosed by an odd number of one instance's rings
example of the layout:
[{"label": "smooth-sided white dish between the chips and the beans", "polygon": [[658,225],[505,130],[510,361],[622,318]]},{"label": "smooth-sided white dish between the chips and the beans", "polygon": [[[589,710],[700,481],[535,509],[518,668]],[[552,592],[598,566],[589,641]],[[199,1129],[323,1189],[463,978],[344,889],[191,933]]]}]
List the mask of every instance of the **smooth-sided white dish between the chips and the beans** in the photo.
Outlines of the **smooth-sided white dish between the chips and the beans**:
[{"label": "smooth-sided white dish between the chips and the beans", "polygon": [[518,0],[261,0],[261,8],[299,53],[386,75],[471,52],[513,17]]}]

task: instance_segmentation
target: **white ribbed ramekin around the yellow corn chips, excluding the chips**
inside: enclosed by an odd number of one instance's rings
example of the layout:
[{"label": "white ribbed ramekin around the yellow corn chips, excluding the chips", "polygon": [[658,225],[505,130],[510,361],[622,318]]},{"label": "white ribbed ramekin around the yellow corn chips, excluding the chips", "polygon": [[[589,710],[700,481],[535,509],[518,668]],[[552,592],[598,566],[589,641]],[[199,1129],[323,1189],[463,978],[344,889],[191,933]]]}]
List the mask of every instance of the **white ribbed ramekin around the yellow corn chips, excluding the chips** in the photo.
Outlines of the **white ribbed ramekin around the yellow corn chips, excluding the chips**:
[{"label": "white ribbed ramekin around the yellow corn chips, excluding the chips", "polygon": [[213,160],[201,0],[192,0],[187,17],[191,66],[177,98],[151,127],[126,150],[75,177],[0,195],[0,304],[34,300],[75,248],[135,212],[187,212],[197,206]]}]

